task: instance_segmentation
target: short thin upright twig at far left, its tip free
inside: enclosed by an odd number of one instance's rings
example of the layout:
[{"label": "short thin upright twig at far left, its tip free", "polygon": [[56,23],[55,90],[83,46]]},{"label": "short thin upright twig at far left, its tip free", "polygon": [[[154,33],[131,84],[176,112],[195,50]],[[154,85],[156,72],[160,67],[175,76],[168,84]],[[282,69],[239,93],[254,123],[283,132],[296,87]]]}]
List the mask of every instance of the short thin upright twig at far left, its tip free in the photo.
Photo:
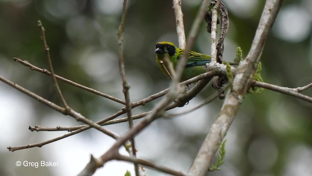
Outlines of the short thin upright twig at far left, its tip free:
[{"label": "short thin upright twig at far left, its tip free", "polygon": [[62,105],[63,107],[65,108],[65,112],[69,112],[71,110],[71,108],[67,105],[66,101],[65,101],[65,98],[59,88],[59,84],[58,84],[58,81],[55,77],[55,74],[54,74],[54,69],[53,69],[53,66],[52,66],[52,61],[51,61],[51,57],[50,57],[50,48],[47,44],[47,41],[46,41],[46,38],[45,38],[45,29],[41,23],[41,21],[39,20],[38,21],[38,26],[41,30],[41,41],[42,41],[42,44],[43,44],[43,47],[44,47],[44,50],[46,52],[46,55],[47,55],[47,59],[48,59],[48,64],[49,64],[49,68],[50,68],[50,71],[51,71],[51,75],[52,75],[52,78],[53,78],[53,82],[54,82],[54,86],[56,88],[56,91],[59,95],[59,99],[60,101],[62,102]]}]

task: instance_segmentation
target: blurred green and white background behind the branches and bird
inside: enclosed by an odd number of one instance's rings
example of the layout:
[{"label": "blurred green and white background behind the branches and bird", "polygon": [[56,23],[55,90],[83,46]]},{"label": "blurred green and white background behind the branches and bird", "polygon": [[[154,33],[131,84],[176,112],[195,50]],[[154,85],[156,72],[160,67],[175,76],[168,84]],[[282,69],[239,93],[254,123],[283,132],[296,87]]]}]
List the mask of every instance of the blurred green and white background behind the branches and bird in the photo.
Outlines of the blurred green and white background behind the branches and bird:
[{"label": "blurred green and white background behind the branches and bird", "polygon": [[[182,0],[188,34],[201,0]],[[52,79],[13,61],[27,60],[48,68],[37,21],[45,29],[55,72],[82,85],[123,99],[118,71],[117,28],[122,0],[0,0],[0,75],[60,105]],[[247,55],[265,0],[224,0],[230,17],[224,60],[232,61],[236,47]],[[169,86],[155,62],[155,43],[177,43],[171,0],[129,0],[124,31],[125,68],[131,100],[137,101]],[[296,88],[312,82],[312,1],[285,0],[261,57],[265,82]],[[204,23],[193,47],[210,54]],[[97,121],[123,106],[59,82],[68,104]],[[214,90],[207,86],[187,106],[189,110]],[[312,89],[303,92],[312,96]],[[159,100],[133,110],[151,110]],[[187,172],[223,101],[187,115],[159,119],[137,135],[137,155]],[[124,115],[122,116],[124,117]],[[73,126],[64,116],[0,83],[0,175],[76,175],[89,160],[114,142],[89,130],[43,146],[9,152],[6,147],[37,143],[67,132],[30,132],[28,126]],[[136,121],[137,122],[137,121]],[[123,134],[127,124],[107,126]],[[211,176],[312,176],[312,104],[265,90],[248,94],[226,136],[227,154],[220,172]],[[126,154],[120,149],[122,154]],[[23,162],[59,162],[57,167],[26,167]],[[16,166],[21,161],[22,166]],[[133,165],[112,161],[95,176],[120,176]],[[40,173],[40,174],[39,174]],[[148,176],[165,174],[146,168]]]}]

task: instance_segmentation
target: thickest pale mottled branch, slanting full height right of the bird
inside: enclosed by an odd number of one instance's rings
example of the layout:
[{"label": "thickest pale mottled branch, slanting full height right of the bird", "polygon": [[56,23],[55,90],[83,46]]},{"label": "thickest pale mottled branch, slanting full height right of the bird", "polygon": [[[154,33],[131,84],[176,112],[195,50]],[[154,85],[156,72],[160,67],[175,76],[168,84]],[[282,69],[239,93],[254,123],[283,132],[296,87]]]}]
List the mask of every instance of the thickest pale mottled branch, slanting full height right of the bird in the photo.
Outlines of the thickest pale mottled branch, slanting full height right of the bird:
[{"label": "thickest pale mottled branch, slanting full height right of the bird", "polygon": [[250,77],[255,71],[268,33],[273,25],[283,0],[267,0],[247,58],[236,70],[233,91],[225,98],[220,113],[211,126],[188,174],[204,176],[226,132],[230,128],[241,102],[250,86]]}]

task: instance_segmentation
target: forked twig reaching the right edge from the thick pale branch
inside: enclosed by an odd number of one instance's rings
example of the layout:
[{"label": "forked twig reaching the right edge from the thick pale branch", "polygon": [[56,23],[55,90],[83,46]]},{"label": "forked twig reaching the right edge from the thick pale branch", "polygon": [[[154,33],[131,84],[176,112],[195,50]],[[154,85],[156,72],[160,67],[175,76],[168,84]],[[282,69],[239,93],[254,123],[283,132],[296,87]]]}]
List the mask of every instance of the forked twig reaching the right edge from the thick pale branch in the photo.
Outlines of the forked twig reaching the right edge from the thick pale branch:
[{"label": "forked twig reaching the right edge from the thick pale branch", "polygon": [[287,95],[292,95],[292,96],[294,96],[296,98],[299,98],[299,99],[302,99],[302,100],[306,100],[306,101],[312,103],[312,97],[309,97],[307,95],[298,93],[299,90],[303,90],[303,89],[307,89],[307,88],[311,87],[310,85],[312,85],[312,83],[307,85],[307,86],[304,86],[302,88],[285,88],[285,87],[275,86],[275,85],[272,85],[272,84],[258,82],[258,81],[255,81],[253,83],[253,86],[255,86],[255,87],[267,88],[267,89],[270,89],[270,90],[273,90],[273,91],[276,91],[276,92],[284,93],[284,94],[287,94]]}]

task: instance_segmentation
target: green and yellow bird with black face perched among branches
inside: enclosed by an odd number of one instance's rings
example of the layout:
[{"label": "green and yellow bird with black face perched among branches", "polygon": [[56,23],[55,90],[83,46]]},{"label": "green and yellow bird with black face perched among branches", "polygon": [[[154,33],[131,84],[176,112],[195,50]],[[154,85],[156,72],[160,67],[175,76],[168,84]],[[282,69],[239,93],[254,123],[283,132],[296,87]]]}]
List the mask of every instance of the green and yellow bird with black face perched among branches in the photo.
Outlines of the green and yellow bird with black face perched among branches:
[{"label": "green and yellow bird with black face perched among branches", "polygon": [[[170,77],[170,75],[164,68],[164,66],[168,68],[168,64],[165,62],[165,57],[169,58],[170,62],[172,62],[174,68],[176,69],[177,62],[182,56],[184,49],[176,47],[171,42],[157,42],[155,47],[156,62],[158,63],[160,70],[165,75]],[[193,78],[199,74],[205,73],[206,64],[210,63],[210,61],[211,56],[190,51],[180,82]]]}]

